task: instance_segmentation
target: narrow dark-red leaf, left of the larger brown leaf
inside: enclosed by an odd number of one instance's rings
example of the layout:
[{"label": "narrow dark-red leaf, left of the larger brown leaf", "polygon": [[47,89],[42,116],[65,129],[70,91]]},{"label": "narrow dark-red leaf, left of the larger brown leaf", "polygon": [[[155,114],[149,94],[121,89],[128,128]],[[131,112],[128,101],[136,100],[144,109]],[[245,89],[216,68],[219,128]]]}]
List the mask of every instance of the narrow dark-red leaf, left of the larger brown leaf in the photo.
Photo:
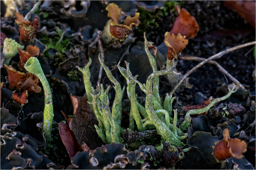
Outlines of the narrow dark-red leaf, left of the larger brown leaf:
[{"label": "narrow dark-red leaf, left of the larger brown leaf", "polygon": [[69,158],[71,159],[71,157],[76,155],[80,146],[78,146],[79,144],[75,139],[74,133],[70,130],[68,125],[66,125],[63,122],[60,122],[58,125],[59,125],[59,134],[60,134],[61,140],[68,151]]}]

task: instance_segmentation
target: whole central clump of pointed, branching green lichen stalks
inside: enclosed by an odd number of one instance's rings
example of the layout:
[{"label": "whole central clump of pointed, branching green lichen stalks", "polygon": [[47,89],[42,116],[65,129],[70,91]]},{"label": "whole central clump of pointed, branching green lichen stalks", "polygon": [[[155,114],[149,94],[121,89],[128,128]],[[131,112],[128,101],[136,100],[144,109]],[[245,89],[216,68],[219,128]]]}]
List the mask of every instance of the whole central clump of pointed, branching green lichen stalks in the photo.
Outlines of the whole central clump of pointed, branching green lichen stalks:
[{"label": "whole central clump of pointed, branching green lichen stalks", "polygon": [[[196,110],[190,110],[187,112],[185,121],[181,124],[181,126],[178,128],[176,126],[177,124],[177,111],[173,110],[172,116],[172,102],[175,99],[175,97],[171,97],[168,94],[166,94],[165,101],[162,103],[160,96],[159,96],[159,76],[165,75],[165,74],[178,74],[173,71],[173,67],[167,69],[167,70],[161,70],[157,71],[156,67],[156,60],[152,56],[152,54],[148,50],[148,41],[145,38],[145,50],[149,57],[150,64],[153,68],[153,73],[148,77],[146,84],[140,83],[136,78],[138,75],[133,76],[129,69],[129,63],[126,63],[126,69],[121,67],[118,63],[117,67],[120,71],[120,73],[125,77],[127,82],[127,96],[131,101],[131,108],[130,108],[130,124],[129,124],[129,130],[130,133],[134,133],[134,122],[137,125],[139,133],[145,132],[147,129],[147,125],[153,125],[153,127],[156,128],[157,133],[162,138],[162,143],[157,148],[159,150],[162,150],[162,144],[165,141],[171,142],[172,146],[178,146],[182,147],[184,143],[182,142],[183,139],[187,137],[187,133],[184,133],[183,131],[187,129],[187,127],[190,126],[190,120],[191,114],[198,114],[205,112],[209,110],[215,102],[219,102],[221,100],[224,100],[228,98],[231,93],[233,93],[233,90],[230,90],[229,94],[222,97],[213,100],[207,107],[203,109],[196,109]],[[89,63],[84,67],[84,69],[78,68],[84,75],[84,83],[85,83],[85,90],[88,96],[88,103],[91,106],[91,109],[93,110],[99,125],[95,125],[96,131],[99,135],[99,137],[105,142],[105,143],[121,143],[123,140],[121,136],[123,135],[123,128],[121,128],[121,100],[124,93],[125,88],[121,89],[120,84],[118,81],[114,78],[114,76],[111,74],[108,67],[101,61],[99,57],[100,64],[103,66],[109,80],[114,83],[114,89],[116,91],[116,96],[113,102],[112,111],[110,111],[109,108],[109,99],[108,99],[108,90],[109,87],[104,90],[104,87],[102,84],[97,85],[96,89],[91,87],[90,80],[90,72],[89,72],[89,66],[91,64],[91,59],[89,59]],[[142,106],[137,102],[137,95],[135,93],[135,85],[136,83],[139,85],[140,89],[146,94],[146,104],[145,107]],[[138,133],[136,131],[136,133]],[[139,134],[138,133],[138,134]],[[136,138],[136,136],[135,136]],[[140,139],[134,139],[134,140],[140,140]]]}]

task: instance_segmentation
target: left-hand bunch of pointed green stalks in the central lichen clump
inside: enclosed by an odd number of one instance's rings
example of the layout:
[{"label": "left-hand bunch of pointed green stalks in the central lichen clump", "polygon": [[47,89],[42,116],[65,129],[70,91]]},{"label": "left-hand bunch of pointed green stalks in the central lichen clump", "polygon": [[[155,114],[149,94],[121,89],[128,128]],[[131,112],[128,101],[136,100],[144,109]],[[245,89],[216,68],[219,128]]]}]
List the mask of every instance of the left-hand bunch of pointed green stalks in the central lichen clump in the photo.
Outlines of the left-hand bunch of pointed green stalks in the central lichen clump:
[{"label": "left-hand bunch of pointed green stalks in the central lichen clump", "polygon": [[85,90],[88,97],[88,103],[93,110],[99,125],[95,125],[96,132],[99,137],[105,143],[120,143],[121,134],[123,129],[121,128],[121,110],[122,110],[122,94],[125,88],[121,89],[120,84],[111,74],[108,67],[101,61],[99,57],[100,64],[103,66],[109,80],[114,83],[114,89],[116,91],[116,96],[112,106],[112,112],[109,108],[108,90],[110,86],[104,90],[102,84],[97,85],[96,89],[91,87],[90,82],[90,71],[89,66],[91,64],[91,59],[89,58],[89,63],[83,68],[78,68],[84,75]]}]

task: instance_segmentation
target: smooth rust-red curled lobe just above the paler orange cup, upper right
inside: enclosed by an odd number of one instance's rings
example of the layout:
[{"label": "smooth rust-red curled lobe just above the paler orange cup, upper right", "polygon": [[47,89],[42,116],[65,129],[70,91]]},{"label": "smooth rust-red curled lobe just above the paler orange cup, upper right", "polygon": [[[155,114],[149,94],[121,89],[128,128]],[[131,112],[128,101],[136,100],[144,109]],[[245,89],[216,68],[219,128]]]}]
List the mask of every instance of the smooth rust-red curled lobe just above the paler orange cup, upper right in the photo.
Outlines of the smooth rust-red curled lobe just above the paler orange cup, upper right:
[{"label": "smooth rust-red curled lobe just above the paler orange cup, upper right", "polygon": [[170,31],[171,34],[180,33],[182,36],[186,36],[186,38],[194,38],[197,36],[199,32],[199,25],[195,17],[191,16],[190,13],[179,6],[175,6],[178,17],[173,23],[172,29]]}]

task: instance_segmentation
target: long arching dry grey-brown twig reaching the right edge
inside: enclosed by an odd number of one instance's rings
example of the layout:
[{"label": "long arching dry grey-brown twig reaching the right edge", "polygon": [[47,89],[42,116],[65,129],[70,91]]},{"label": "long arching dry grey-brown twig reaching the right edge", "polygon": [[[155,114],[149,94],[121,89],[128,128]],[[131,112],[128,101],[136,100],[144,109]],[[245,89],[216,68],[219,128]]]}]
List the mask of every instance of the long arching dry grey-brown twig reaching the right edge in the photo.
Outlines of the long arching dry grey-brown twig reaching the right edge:
[{"label": "long arching dry grey-brown twig reaching the right edge", "polygon": [[235,47],[232,47],[232,48],[229,48],[227,50],[224,50],[224,51],[221,51],[220,53],[217,53],[213,56],[211,56],[210,58],[207,58],[206,60],[200,62],[199,64],[197,64],[194,68],[192,68],[189,72],[187,72],[183,77],[182,79],[180,80],[180,82],[174,87],[174,89],[171,91],[170,95],[169,96],[172,96],[173,93],[177,90],[177,88],[181,85],[181,83],[191,74],[193,73],[196,69],[198,69],[199,67],[201,67],[203,64],[211,61],[211,60],[216,60],[220,57],[222,57],[224,54],[227,54],[229,53],[230,51],[233,51],[233,50],[236,50],[236,49],[239,49],[239,48],[243,48],[243,47],[247,47],[247,46],[250,46],[250,45],[254,45],[256,44],[256,41],[253,41],[253,42],[250,42],[250,43],[246,43],[246,44],[242,44],[242,45],[238,45],[238,46],[235,46]]}]

